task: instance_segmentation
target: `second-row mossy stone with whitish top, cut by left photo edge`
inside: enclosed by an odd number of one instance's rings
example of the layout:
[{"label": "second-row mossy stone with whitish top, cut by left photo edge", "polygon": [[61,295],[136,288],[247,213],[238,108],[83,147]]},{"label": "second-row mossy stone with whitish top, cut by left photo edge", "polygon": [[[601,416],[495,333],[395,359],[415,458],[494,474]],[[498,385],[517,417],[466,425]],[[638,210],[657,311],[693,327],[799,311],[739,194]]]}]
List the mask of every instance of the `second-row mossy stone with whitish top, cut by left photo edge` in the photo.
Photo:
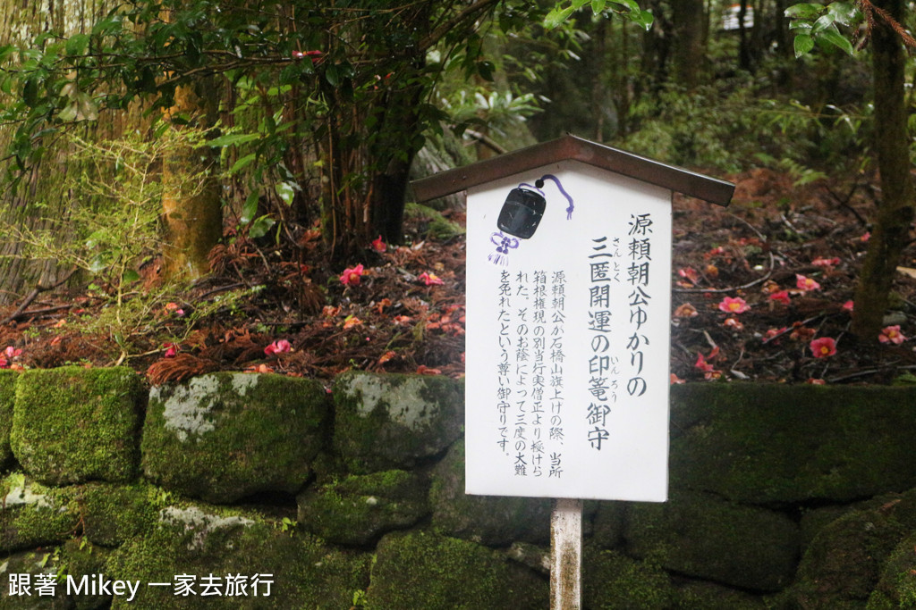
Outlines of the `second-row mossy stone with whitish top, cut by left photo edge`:
[{"label": "second-row mossy stone with whitish top, cut by left photo edge", "polygon": [[0,550],[60,543],[71,538],[79,522],[73,487],[45,487],[22,473],[0,482]]}]

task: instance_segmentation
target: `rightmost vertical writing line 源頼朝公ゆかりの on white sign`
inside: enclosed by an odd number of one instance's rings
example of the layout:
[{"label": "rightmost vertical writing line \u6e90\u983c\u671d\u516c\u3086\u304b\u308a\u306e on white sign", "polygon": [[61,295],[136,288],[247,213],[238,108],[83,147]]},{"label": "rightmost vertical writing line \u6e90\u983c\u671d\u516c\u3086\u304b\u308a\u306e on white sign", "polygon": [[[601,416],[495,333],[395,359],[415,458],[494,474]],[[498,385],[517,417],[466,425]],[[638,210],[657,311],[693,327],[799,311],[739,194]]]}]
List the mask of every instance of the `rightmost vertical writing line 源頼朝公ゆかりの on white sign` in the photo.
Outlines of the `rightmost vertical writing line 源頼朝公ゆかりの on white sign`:
[{"label": "rightmost vertical writing line \u6e90\u983c\u671d\u516c\u3086\u304b\u308a\u306e on white sign", "polygon": [[647,292],[649,289],[649,263],[651,257],[652,219],[651,214],[631,214],[627,236],[630,238],[627,248],[629,267],[627,268],[627,282],[632,291],[628,296],[629,304],[629,332],[627,350],[630,356],[627,393],[638,397],[646,393],[646,379],[642,376],[645,366],[643,346],[649,345],[649,337],[642,334],[640,329],[649,321],[649,299],[652,297]]}]

